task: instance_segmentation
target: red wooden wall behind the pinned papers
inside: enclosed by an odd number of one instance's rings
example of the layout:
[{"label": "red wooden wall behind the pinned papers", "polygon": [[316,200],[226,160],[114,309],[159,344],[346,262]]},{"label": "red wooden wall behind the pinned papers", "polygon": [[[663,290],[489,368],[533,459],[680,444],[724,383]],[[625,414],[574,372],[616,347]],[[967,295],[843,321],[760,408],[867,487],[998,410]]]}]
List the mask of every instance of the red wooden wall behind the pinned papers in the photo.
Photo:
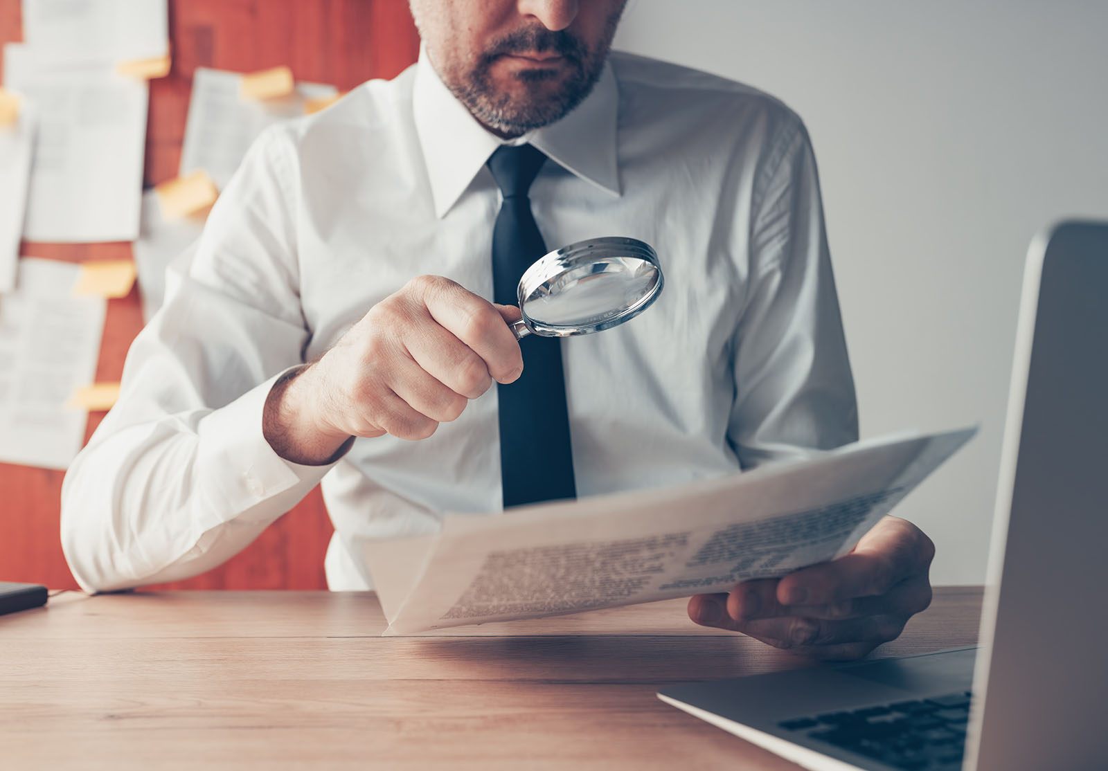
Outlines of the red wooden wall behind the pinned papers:
[{"label": "red wooden wall behind the pinned papers", "polygon": [[[21,39],[20,0],[0,0],[0,43]],[[416,61],[406,0],[170,0],[173,70],[151,81],[144,186],[176,176],[196,66],[252,72],[280,64],[297,80],[346,91]],[[131,257],[130,244],[29,244],[21,254],[68,261]],[[137,289],[109,300],[96,379],[119,380],[142,326]],[[89,418],[85,439],[103,418]],[[59,544],[62,472],[0,463],[0,580],[76,588]],[[246,551],[175,588],[324,588],[331,526],[318,490]]]}]

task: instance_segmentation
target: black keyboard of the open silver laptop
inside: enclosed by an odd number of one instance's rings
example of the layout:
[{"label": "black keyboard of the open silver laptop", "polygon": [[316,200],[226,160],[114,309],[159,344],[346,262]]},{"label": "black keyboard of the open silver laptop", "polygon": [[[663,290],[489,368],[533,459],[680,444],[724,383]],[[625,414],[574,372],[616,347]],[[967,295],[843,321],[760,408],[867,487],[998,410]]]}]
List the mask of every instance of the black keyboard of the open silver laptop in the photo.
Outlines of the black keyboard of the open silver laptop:
[{"label": "black keyboard of the open silver laptop", "polygon": [[896,769],[919,771],[961,765],[968,718],[970,691],[960,691],[782,720],[779,726]]}]

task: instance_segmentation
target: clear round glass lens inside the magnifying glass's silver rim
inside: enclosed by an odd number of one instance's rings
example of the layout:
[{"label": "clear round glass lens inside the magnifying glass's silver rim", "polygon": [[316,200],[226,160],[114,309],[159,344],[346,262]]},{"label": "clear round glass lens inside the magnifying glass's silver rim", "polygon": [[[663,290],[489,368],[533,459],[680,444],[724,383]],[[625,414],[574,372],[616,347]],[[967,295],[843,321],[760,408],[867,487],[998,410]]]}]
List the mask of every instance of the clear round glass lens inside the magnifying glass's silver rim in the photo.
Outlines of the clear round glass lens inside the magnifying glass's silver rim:
[{"label": "clear round glass lens inside the magnifying glass's silver rim", "polygon": [[523,312],[550,327],[587,327],[626,313],[650,297],[658,266],[638,257],[606,257],[577,265],[535,287]]}]

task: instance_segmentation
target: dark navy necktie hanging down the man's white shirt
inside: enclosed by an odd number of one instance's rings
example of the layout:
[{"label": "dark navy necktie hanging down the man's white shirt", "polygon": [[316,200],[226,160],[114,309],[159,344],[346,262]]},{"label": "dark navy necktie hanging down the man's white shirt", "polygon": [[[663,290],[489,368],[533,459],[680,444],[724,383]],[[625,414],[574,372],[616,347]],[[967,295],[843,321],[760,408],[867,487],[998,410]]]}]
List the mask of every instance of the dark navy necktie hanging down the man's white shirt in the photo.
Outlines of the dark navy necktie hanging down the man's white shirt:
[{"label": "dark navy necktie hanging down the man's white shirt", "polygon": [[[544,161],[542,151],[531,145],[503,145],[489,158],[489,171],[504,195],[492,232],[493,299],[502,305],[519,304],[520,277],[546,254],[527,198]],[[531,335],[520,345],[523,374],[496,389],[505,508],[576,497],[562,340]]]}]

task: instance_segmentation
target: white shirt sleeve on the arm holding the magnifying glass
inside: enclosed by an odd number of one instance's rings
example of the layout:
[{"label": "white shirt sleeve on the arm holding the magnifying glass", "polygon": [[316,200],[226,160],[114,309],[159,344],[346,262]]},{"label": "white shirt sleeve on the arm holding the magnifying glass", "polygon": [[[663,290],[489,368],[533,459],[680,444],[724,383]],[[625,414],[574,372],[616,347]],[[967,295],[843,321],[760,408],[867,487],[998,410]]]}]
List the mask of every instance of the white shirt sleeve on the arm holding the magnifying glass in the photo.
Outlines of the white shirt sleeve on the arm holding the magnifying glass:
[{"label": "white shirt sleeve on the arm holding the magnifying glass", "polygon": [[261,431],[274,381],[308,339],[295,255],[297,169],[264,134],[166,273],[163,308],[127,353],[119,402],[62,485],[62,548],[86,590],[223,563],[330,466],[290,463]]}]

